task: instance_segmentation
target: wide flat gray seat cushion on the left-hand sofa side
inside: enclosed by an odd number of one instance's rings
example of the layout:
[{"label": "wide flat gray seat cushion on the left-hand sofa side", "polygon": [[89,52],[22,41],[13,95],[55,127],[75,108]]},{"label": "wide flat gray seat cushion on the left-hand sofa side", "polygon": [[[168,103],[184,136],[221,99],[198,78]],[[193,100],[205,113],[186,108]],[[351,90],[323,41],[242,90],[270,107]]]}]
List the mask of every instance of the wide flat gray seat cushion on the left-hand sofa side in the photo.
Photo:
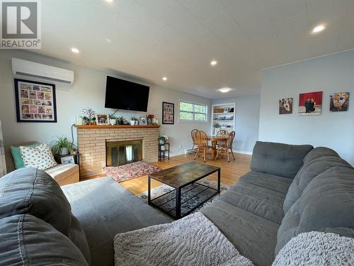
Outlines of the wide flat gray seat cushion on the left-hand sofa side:
[{"label": "wide flat gray seat cushion on the left-hand sofa side", "polygon": [[84,228],[93,266],[114,265],[115,234],[171,221],[111,177],[69,184],[62,190]]}]

